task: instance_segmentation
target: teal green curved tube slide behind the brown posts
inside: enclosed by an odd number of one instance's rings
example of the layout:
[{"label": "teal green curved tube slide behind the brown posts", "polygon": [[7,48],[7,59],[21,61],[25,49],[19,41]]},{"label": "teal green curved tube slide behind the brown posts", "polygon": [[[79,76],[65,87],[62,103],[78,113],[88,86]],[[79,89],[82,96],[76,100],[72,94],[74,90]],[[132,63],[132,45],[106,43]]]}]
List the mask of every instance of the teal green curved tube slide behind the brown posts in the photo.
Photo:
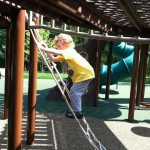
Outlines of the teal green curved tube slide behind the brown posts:
[{"label": "teal green curved tube slide behind the brown posts", "polygon": [[[106,45],[105,50],[109,50],[109,44]],[[111,65],[110,85],[116,84],[118,81],[130,77],[133,68],[133,54],[134,46],[125,42],[114,42],[113,55],[121,58],[119,62]],[[103,65],[100,71],[100,85],[106,85],[108,66]]]}]

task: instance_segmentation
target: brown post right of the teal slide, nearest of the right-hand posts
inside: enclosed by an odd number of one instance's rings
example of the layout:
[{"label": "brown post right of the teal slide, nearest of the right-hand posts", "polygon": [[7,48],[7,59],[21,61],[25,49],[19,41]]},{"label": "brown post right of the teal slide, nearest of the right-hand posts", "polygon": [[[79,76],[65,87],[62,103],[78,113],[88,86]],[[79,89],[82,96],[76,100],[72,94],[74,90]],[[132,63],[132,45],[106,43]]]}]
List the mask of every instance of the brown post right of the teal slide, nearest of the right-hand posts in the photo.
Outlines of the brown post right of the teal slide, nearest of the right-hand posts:
[{"label": "brown post right of the teal slide, nearest of the right-hand posts", "polygon": [[128,114],[129,122],[132,122],[134,119],[135,97],[136,97],[136,88],[137,88],[136,84],[137,84],[137,77],[138,77],[139,52],[140,52],[140,45],[136,44],[135,50],[134,50],[133,71],[132,71],[130,101],[129,101],[129,114]]}]

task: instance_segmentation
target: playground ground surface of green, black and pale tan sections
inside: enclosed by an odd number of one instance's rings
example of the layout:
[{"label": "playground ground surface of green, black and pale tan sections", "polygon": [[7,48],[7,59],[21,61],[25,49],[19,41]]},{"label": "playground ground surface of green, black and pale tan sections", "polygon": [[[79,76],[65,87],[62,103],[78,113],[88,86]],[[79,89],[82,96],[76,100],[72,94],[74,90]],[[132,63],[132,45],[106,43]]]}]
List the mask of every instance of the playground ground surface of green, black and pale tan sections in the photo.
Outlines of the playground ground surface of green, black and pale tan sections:
[{"label": "playground ground surface of green, black and pale tan sections", "polygon": [[[64,101],[46,100],[51,80],[38,80],[35,144],[26,142],[26,108],[28,80],[24,80],[22,149],[93,150],[78,123],[64,116]],[[150,85],[146,85],[145,101],[150,102]],[[107,150],[150,150],[150,109],[135,111],[135,122],[127,122],[130,85],[111,86],[110,99],[105,100],[105,89],[99,94],[99,106],[84,104],[83,112],[96,137]],[[7,120],[3,120],[4,79],[0,79],[0,149],[7,149]],[[83,125],[83,123],[81,122]],[[84,126],[84,125],[83,125]]]}]

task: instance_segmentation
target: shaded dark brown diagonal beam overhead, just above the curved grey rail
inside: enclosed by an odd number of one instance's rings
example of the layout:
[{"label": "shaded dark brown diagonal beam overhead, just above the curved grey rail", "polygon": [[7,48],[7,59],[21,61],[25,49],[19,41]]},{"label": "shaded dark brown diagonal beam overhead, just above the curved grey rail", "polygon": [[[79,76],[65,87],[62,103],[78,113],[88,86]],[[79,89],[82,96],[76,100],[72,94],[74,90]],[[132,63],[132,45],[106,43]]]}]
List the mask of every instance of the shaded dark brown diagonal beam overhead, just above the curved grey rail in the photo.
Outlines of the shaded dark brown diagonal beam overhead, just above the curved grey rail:
[{"label": "shaded dark brown diagonal beam overhead, just above the curved grey rail", "polygon": [[100,30],[100,27],[96,24],[93,24],[86,19],[83,19],[79,16],[76,16],[64,8],[61,8],[60,6],[53,4],[50,1],[37,1],[36,0],[27,0],[27,1],[15,1],[15,0],[9,0],[11,3],[15,3],[16,5],[20,5],[23,8],[26,8],[27,10],[32,10],[36,13],[39,13],[41,15],[46,16],[47,18],[55,19],[60,22],[64,22],[70,25],[76,25],[83,28],[89,28],[94,30]]}]

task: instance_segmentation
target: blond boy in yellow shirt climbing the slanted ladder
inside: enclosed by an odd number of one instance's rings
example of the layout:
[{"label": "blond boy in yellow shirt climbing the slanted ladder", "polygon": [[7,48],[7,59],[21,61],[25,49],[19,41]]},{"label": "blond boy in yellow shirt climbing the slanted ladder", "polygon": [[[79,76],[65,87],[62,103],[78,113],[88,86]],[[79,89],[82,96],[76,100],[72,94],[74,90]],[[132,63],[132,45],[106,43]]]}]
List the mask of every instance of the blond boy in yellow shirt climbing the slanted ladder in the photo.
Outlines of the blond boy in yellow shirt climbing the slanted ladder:
[{"label": "blond boy in yellow shirt climbing the slanted ladder", "polygon": [[[83,118],[82,95],[90,81],[95,77],[92,66],[74,49],[74,42],[70,35],[59,34],[55,37],[56,49],[48,48],[41,44],[40,49],[47,52],[53,62],[67,63],[68,75],[73,85],[70,88],[71,108],[78,119]],[[71,112],[66,112],[66,117],[74,119]]]}]

